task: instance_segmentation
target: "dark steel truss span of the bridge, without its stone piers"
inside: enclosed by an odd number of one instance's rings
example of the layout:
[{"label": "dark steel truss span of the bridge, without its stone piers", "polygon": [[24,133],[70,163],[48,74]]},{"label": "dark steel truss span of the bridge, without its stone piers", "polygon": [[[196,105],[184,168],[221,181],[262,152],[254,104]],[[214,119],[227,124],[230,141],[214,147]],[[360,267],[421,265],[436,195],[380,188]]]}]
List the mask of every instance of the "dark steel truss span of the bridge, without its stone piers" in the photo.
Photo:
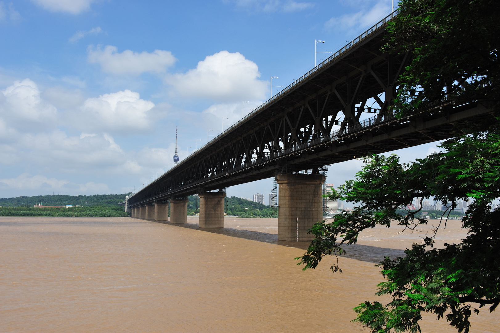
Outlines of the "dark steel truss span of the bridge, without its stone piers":
[{"label": "dark steel truss span of the bridge, without its stone piers", "polygon": [[[269,178],[276,170],[310,170],[439,141],[459,134],[464,123],[491,117],[477,103],[443,102],[424,113],[394,118],[391,101],[410,55],[384,54],[383,44],[381,29],[309,71],[131,196],[129,205]],[[363,120],[366,115],[372,117]]]}]

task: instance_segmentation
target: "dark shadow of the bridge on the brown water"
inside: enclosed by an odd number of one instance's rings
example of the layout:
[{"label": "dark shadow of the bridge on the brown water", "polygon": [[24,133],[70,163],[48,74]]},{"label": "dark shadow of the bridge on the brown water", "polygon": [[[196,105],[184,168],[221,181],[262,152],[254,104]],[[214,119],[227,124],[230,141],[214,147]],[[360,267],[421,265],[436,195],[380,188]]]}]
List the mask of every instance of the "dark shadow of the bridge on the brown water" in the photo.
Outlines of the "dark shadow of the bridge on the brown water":
[{"label": "dark shadow of the bridge on the brown water", "polygon": [[[307,246],[309,246],[310,243],[309,241],[290,242],[285,240],[278,240],[277,234],[262,232],[262,231],[252,231],[247,229],[235,229],[235,228],[200,229],[197,223],[175,224],[175,223],[160,222],[160,221],[153,221],[153,222],[169,224],[181,228],[196,229],[204,232],[216,233],[230,237],[237,237],[237,238],[255,240],[270,244],[295,247],[302,249],[304,251],[307,249]],[[385,256],[388,256],[390,258],[395,258],[397,256],[404,256],[403,250],[388,248],[388,247],[354,244],[354,245],[344,246],[343,248],[346,251],[347,258],[372,262],[375,264],[378,264],[381,260],[383,260]]]}]

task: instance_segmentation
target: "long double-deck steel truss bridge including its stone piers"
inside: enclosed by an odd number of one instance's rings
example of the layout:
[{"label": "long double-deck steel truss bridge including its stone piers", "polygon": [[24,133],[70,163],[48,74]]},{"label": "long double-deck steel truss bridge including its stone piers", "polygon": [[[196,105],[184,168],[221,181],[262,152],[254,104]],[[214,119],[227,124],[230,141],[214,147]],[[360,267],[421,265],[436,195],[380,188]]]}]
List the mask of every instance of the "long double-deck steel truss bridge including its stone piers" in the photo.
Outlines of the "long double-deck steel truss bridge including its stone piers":
[{"label": "long double-deck steel truss bridge including its stone piers", "polygon": [[132,217],[166,220],[170,202],[170,222],[184,223],[186,196],[197,193],[200,228],[223,227],[222,188],[275,176],[278,239],[310,240],[306,230],[322,219],[319,168],[447,139],[460,123],[487,116],[490,110],[477,102],[443,101],[394,117],[390,106],[398,78],[411,60],[409,53],[380,51],[394,15],[133,194],[127,199]]}]

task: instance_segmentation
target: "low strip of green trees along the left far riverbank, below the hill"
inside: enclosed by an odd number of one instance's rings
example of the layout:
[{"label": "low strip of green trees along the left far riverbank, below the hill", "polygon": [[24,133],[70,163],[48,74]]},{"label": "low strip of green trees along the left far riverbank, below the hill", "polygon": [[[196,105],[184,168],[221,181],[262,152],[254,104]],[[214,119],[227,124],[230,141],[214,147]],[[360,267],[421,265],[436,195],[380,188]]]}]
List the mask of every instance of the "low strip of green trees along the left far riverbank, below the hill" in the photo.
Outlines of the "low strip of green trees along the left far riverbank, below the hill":
[{"label": "low strip of green trees along the left far riverbank, below the hill", "polygon": [[0,216],[127,217],[122,206],[69,208],[0,207]]}]

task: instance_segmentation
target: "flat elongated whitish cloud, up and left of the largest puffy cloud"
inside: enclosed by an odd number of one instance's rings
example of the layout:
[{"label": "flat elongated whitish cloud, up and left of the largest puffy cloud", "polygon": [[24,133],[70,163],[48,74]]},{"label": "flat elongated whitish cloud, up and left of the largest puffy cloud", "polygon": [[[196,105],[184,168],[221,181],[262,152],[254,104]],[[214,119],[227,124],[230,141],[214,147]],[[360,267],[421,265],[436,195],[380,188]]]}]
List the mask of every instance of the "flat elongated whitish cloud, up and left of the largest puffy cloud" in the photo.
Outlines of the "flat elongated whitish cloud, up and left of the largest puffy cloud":
[{"label": "flat elongated whitish cloud, up and left of the largest puffy cloud", "polygon": [[132,52],[125,50],[118,53],[115,46],[108,45],[104,49],[100,47],[88,47],[88,62],[99,64],[102,71],[111,74],[139,75],[144,72],[161,73],[167,67],[172,66],[176,59],[170,51],[154,50],[148,52]]}]

